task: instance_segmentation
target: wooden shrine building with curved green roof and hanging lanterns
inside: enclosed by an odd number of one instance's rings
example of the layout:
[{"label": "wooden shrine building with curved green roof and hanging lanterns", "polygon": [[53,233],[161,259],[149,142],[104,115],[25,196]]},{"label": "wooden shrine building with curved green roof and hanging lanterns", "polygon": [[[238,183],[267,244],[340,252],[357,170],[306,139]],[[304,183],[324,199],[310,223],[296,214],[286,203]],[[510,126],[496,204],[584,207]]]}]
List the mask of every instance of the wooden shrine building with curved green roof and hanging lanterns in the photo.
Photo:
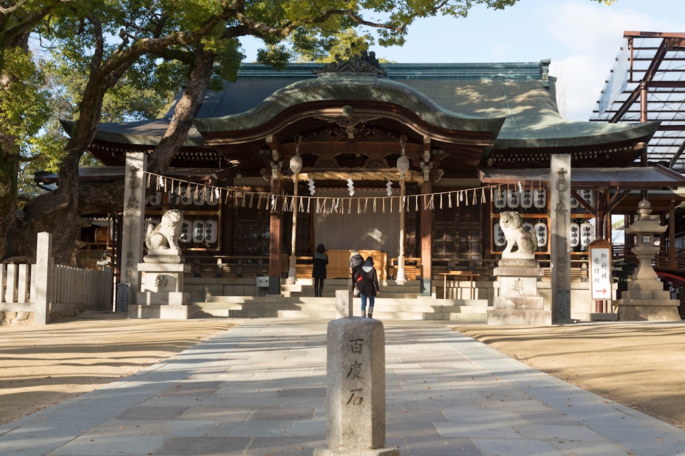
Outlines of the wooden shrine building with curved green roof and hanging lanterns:
[{"label": "wooden shrine building with curved green roof and hanging lanterns", "polygon": [[[363,53],[281,71],[243,64],[236,82],[207,92],[169,170],[147,173],[145,216],[182,210],[194,301],[254,295],[258,276],[269,278],[267,294],[289,295],[286,284],[311,279],[319,243],[329,280],[347,279],[359,250],[386,286],[445,298],[445,273],[471,271],[488,299],[505,245],[501,211],[519,212],[549,269],[550,160],[562,154],[571,160],[569,274],[582,282],[588,245],[612,241],[611,215],[636,213],[646,197],[665,222],[685,179],[640,163],[659,122],[562,118],[549,63],[379,64]],[[127,154],[152,152],[173,121],[172,108],[158,120],[101,124],[88,152],[105,168],[82,176],[123,179]],[[121,270],[119,226],[112,217],[107,245]],[[93,252],[95,231],[86,234]],[[584,301],[572,315],[586,318]]]}]

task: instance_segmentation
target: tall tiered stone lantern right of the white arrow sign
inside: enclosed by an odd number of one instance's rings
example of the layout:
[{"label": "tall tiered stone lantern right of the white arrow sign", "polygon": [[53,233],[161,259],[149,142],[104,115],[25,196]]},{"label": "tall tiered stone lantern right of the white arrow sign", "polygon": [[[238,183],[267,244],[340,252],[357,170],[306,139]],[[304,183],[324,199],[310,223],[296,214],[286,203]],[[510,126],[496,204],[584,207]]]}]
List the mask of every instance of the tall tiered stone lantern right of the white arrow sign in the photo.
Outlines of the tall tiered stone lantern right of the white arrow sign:
[{"label": "tall tiered stone lantern right of the white arrow sign", "polygon": [[625,232],[635,235],[635,247],[631,252],[638,258],[638,267],[628,282],[627,291],[621,293],[621,299],[615,302],[619,321],[681,320],[678,313],[680,301],[670,299],[669,291],[664,291],[664,284],[651,266],[659,252],[658,245],[654,245],[654,236],[668,228],[661,226],[658,218],[651,215],[649,201],[642,200],[638,204],[638,219],[625,229]]}]

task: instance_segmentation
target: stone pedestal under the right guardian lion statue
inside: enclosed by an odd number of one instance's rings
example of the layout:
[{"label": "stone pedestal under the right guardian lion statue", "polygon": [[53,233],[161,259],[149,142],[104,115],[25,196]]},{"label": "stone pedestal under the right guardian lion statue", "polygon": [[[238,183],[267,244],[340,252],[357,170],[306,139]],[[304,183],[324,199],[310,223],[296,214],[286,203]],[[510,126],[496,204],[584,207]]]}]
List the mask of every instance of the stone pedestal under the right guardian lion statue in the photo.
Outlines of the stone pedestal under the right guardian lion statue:
[{"label": "stone pedestal under the right guardian lion statue", "polygon": [[551,311],[544,309],[543,297],[538,297],[538,277],[544,271],[534,254],[508,254],[493,273],[499,296],[488,309],[488,325],[551,324]]}]

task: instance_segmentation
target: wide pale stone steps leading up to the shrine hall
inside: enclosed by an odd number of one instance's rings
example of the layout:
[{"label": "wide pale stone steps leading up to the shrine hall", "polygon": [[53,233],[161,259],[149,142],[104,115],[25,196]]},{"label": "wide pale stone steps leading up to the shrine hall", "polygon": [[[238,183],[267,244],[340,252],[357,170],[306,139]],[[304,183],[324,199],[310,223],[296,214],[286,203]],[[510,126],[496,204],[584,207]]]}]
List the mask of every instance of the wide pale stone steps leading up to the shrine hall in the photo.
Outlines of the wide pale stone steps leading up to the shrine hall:
[{"label": "wide pale stone steps leading up to the shrine hall", "polygon": [[[280,295],[210,296],[195,303],[201,314],[230,318],[335,318],[335,290],[347,289],[345,280],[327,280],[323,297],[314,297],[314,287],[307,281],[282,285]],[[440,290],[442,291],[442,290]],[[360,300],[353,299],[353,314],[360,314]],[[449,320],[484,322],[487,320],[486,299],[436,299],[420,294],[419,281],[405,285],[388,282],[375,299],[373,317],[397,320]]]}]

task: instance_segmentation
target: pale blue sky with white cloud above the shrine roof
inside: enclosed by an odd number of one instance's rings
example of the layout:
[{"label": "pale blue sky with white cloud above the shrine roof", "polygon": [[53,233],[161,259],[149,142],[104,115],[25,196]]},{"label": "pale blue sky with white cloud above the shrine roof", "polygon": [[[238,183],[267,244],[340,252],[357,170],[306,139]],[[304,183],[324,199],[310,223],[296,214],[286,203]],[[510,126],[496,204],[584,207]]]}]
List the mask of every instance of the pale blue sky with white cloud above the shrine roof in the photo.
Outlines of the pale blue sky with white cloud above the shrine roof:
[{"label": "pale blue sky with white cloud above the shrine roof", "polygon": [[[623,31],[685,32],[683,0],[521,0],[506,10],[474,8],[467,18],[416,21],[404,46],[374,46],[377,57],[401,63],[538,62],[551,59],[565,118],[588,120]],[[246,62],[257,43],[244,42]]]}]

